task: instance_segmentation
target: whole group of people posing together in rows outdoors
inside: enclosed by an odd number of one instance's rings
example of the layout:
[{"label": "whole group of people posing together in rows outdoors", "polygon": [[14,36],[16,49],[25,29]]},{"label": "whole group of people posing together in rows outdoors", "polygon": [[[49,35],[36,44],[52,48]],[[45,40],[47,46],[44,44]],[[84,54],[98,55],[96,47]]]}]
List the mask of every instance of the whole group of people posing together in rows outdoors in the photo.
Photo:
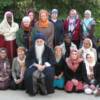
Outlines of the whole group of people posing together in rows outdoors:
[{"label": "whole group of people posing together in rows outdoors", "polygon": [[[100,95],[99,49],[91,11],[81,20],[75,9],[58,19],[58,10],[32,9],[20,25],[11,11],[0,23],[0,89],[47,95],[55,89]],[[38,20],[36,20],[38,19]]]}]

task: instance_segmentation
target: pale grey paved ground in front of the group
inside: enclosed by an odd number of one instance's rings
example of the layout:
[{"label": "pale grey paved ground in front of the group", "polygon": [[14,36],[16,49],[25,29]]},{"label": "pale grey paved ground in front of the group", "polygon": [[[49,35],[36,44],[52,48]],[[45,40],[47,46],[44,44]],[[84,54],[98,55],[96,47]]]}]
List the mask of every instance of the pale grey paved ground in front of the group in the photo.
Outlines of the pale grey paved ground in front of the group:
[{"label": "pale grey paved ground in front of the group", "polygon": [[30,97],[25,91],[12,91],[5,90],[0,91],[0,100],[100,100],[100,97],[95,97],[93,95],[81,94],[68,94],[64,91],[56,91],[54,94],[47,96],[37,95],[35,97]]}]

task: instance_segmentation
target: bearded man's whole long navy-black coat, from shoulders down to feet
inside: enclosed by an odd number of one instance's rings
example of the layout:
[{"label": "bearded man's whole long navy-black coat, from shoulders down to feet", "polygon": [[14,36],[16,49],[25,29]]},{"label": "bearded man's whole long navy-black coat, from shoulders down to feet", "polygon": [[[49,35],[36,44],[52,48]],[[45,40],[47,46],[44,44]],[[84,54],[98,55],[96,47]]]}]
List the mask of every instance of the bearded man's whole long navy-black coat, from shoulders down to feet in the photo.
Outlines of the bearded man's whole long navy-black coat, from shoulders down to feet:
[{"label": "bearded man's whole long navy-black coat, from shoulders down to feet", "polygon": [[[45,75],[45,85],[47,88],[48,93],[53,93],[54,88],[53,88],[53,79],[54,79],[54,66],[55,65],[55,57],[52,52],[52,50],[45,45],[44,52],[42,54],[42,64],[45,62],[48,62],[51,64],[50,67],[46,67],[42,72]],[[26,72],[25,72],[25,88],[27,93],[33,95],[35,92],[33,89],[35,89],[35,85],[33,82],[33,72],[37,70],[36,67],[32,66],[30,67],[33,63],[38,63],[38,60],[36,58],[36,53],[35,53],[35,46],[29,49],[26,55]]]}]

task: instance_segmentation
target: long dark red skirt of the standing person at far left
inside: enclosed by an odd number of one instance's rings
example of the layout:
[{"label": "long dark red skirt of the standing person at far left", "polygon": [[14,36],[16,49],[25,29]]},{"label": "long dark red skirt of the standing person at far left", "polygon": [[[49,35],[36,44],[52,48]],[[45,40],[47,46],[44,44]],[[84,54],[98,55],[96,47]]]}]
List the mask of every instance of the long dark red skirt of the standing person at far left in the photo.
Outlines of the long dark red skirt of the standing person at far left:
[{"label": "long dark red skirt of the standing person at far left", "polygon": [[12,64],[12,60],[14,57],[17,55],[17,45],[16,45],[16,40],[13,41],[5,41],[5,47],[7,49],[7,56],[10,60],[10,63]]}]

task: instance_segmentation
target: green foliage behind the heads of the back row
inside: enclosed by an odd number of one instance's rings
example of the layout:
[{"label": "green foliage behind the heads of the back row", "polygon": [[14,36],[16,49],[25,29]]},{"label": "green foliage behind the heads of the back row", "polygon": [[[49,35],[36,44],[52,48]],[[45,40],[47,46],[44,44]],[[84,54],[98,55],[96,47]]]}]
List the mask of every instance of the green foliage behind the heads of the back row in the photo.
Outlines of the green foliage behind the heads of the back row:
[{"label": "green foliage behind the heads of the back row", "polygon": [[[75,8],[83,16],[86,9],[93,12],[93,16],[98,19],[100,16],[99,0],[0,0],[0,17],[7,10],[12,10],[15,13],[15,19],[20,21],[26,14],[27,9],[33,8],[36,11],[40,9],[47,9],[51,11],[52,8],[59,10],[60,16],[67,16],[71,8]],[[64,17],[64,18],[65,18]]]}]

